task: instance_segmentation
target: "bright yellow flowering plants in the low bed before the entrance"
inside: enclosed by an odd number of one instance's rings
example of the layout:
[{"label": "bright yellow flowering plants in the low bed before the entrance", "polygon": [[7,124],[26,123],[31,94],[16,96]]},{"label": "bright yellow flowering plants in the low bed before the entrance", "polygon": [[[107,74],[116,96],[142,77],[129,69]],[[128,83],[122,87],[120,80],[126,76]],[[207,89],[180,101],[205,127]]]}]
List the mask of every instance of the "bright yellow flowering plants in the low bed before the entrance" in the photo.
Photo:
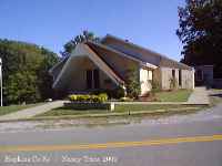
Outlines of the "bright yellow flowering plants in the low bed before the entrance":
[{"label": "bright yellow flowering plants in the low bed before the entrance", "polygon": [[89,94],[72,94],[69,95],[71,102],[93,102],[93,103],[104,103],[108,101],[108,95],[101,93],[99,95],[89,95]]}]

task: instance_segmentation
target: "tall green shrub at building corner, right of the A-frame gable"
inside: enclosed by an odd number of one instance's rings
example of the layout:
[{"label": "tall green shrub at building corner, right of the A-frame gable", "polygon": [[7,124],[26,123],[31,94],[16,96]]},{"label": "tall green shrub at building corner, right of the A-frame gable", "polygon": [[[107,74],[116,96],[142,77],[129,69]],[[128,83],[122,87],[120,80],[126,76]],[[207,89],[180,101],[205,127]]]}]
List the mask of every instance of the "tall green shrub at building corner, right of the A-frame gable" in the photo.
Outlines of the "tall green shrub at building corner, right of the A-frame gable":
[{"label": "tall green shrub at building corner, right of the A-frame gable", "polygon": [[127,72],[125,87],[127,87],[127,94],[129,97],[132,97],[132,98],[139,97],[141,93],[141,89],[140,89],[138,71],[135,68],[132,68]]}]

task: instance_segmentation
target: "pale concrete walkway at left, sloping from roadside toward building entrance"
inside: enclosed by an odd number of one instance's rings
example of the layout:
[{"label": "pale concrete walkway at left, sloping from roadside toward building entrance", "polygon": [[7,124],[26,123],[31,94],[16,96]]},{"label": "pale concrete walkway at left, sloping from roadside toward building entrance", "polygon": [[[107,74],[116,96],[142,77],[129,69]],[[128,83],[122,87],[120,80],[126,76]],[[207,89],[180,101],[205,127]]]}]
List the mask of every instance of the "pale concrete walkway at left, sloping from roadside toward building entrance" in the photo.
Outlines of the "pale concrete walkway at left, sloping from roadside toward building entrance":
[{"label": "pale concrete walkway at left, sloping from roadside toward building entrance", "polygon": [[19,118],[29,118],[32,116],[36,116],[38,114],[46,113],[52,108],[57,108],[62,106],[64,101],[54,101],[50,103],[46,103],[43,105],[34,106],[34,107],[29,107],[22,111],[18,111],[16,113],[10,113],[3,116],[0,116],[0,121],[13,121],[13,120],[19,120]]}]

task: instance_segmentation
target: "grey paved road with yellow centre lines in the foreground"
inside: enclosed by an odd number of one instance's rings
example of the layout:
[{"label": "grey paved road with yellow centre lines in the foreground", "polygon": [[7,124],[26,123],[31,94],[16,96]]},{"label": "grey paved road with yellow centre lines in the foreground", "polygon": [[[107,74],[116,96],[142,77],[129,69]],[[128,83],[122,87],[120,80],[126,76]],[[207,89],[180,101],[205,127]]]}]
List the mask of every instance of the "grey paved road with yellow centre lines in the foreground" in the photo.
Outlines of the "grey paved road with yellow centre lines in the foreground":
[{"label": "grey paved road with yellow centre lines in the foreground", "polygon": [[1,131],[0,165],[221,166],[222,104],[128,125]]}]

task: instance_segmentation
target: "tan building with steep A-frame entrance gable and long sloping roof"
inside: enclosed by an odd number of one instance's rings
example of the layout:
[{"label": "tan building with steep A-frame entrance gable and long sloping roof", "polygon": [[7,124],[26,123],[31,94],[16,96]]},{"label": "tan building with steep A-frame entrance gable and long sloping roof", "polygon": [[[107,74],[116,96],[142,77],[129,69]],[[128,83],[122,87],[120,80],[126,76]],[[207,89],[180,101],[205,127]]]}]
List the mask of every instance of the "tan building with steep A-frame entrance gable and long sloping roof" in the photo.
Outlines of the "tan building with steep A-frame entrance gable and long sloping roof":
[{"label": "tan building with steep A-frame entrance gable and long sloping roof", "polygon": [[171,89],[172,79],[179,89],[194,89],[192,68],[110,34],[100,42],[78,44],[69,58],[49,72],[53,89],[70,94],[124,87],[132,69],[141,95],[150,92],[153,83],[161,90]]}]

